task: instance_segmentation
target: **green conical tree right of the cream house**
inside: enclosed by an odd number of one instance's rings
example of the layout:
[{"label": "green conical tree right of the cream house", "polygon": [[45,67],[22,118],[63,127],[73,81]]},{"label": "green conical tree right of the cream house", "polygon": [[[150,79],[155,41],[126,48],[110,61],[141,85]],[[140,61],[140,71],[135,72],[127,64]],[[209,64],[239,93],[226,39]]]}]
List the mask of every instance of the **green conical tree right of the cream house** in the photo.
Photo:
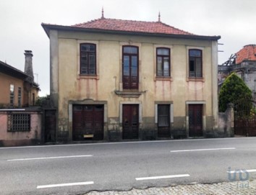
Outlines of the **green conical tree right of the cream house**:
[{"label": "green conical tree right of the cream house", "polygon": [[220,112],[225,112],[229,103],[234,104],[236,112],[245,115],[249,115],[252,109],[252,91],[236,73],[231,73],[221,86],[218,105]]}]

